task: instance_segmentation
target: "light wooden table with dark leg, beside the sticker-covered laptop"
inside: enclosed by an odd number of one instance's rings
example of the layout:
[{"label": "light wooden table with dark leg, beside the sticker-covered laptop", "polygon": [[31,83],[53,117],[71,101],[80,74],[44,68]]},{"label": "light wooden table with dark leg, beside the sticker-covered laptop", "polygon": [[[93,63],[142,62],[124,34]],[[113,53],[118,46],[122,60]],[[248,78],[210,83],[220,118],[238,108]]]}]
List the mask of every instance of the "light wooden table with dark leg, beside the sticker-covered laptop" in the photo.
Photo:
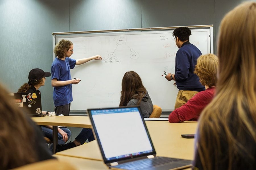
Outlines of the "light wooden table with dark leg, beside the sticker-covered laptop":
[{"label": "light wooden table with dark leg, beside the sticker-covered laptop", "polygon": [[32,120],[37,125],[53,126],[53,154],[55,154],[56,146],[58,144],[58,131],[57,126],[68,127],[81,127],[92,128],[89,117],[87,116],[45,116],[45,117],[32,117]]}]

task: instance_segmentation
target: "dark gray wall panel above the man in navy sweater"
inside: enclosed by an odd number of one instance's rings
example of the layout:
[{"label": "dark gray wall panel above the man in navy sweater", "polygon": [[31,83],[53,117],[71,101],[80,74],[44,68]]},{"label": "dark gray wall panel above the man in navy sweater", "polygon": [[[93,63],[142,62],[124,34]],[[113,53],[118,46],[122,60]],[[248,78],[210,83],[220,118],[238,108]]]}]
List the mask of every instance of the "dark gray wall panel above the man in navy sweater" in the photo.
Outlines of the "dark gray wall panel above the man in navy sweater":
[{"label": "dark gray wall panel above the man in navy sweater", "polygon": [[142,0],[142,27],[214,25],[214,22],[212,0]]}]

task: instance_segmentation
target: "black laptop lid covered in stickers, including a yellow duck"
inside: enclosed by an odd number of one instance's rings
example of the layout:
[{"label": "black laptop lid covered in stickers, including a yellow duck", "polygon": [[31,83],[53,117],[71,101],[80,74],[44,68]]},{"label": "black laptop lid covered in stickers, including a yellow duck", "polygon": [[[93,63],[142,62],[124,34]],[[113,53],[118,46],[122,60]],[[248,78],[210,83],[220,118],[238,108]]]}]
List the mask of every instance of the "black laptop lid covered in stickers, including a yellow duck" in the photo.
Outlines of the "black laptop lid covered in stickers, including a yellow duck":
[{"label": "black laptop lid covered in stickers, including a yellow duck", "polygon": [[9,93],[17,107],[22,107],[28,111],[30,117],[43,117],[41,92],[36,93]]}]

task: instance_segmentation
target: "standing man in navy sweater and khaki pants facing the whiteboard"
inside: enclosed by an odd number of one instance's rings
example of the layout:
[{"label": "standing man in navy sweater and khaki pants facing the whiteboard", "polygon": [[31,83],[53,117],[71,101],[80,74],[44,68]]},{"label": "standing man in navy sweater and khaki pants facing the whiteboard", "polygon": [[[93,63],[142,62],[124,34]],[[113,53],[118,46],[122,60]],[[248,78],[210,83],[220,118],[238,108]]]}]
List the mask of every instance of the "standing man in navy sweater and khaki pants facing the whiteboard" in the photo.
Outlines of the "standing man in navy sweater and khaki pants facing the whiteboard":
[{"label": "standing man in navy sweater and khaki pants facing the whiteboard", "polygon": [[179,89],[175,109],[187,103],[195,94],[205,90],[199,82],[199,77],[194,73],[197,58],[202,55],[201,51],[189,42],[191,30],[187,27],[179,27],[173,31],[175,42],[179,50],[175,57],[175,74],[169,73],[166,79],[174,80]]}]

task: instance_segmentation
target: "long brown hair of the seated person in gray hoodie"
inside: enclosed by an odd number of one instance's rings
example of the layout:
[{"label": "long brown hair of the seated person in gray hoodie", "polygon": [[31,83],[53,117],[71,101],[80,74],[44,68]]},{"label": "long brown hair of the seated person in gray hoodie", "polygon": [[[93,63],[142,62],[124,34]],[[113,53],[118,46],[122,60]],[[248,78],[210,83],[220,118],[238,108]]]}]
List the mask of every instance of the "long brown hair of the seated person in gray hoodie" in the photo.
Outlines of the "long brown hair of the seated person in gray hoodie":
[{"label": "long brown hair of the seated person in gray hoodie", "polygon": [[141,103],[146,94],[140,76],[134,71],[127,71],[122,80],[122,91],[119,106],[126,106],[132,98],[139,99],[137,105]]}]

